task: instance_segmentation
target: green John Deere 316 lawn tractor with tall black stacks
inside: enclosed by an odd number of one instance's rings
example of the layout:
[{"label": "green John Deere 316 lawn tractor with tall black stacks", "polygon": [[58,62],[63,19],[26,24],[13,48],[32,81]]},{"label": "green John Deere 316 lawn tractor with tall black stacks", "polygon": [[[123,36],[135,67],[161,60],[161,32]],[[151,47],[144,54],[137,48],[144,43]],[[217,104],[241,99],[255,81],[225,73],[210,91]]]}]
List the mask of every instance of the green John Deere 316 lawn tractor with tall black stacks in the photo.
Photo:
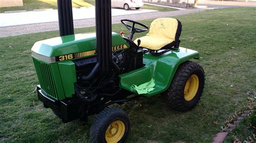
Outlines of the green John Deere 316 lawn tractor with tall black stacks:
[{"label": "green John Deere 316 lawn tractor with tall black stacks", "polygon": [[95,7],[96,33],[74,34],[71,0],[58,0],[60,37],[33,45],[44,107],[64,123],[96,115],[92,142],[124,141],[130,120],[123,110],[109,108],[112,104],[161,94],[172,109],[192,109],[203,93],[204,70],[189,61],[199,59],[197,51],[179,47],[179,20],[158,18],[149,28],[122,19],[130,31],[125,37],[111,32],[111,1],[96,0]]}]

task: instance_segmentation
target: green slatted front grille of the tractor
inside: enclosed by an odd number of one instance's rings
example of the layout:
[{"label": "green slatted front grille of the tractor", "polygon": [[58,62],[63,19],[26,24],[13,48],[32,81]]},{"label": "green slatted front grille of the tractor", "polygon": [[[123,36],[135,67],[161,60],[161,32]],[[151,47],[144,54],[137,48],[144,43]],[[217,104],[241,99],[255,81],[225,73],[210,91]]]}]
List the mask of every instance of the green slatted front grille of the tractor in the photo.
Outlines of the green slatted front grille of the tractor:
[{"label": "green slatted front grille of the tractor", "polygon": [[57,99],[57,89],[54,78],[52,76],[52,70],[49,64],[43,63],[33,58],[33,62],[36,68],[39,84],[43,91],[49,96]]}]

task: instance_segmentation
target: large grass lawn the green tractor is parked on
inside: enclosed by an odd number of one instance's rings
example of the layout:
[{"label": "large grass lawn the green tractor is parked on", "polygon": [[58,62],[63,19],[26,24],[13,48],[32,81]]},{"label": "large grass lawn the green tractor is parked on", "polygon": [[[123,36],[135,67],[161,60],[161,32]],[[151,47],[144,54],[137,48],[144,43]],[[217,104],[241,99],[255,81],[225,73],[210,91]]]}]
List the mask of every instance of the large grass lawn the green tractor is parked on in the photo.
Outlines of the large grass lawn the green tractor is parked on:
[{"label": "large grass lawn the green tractor is parked on", "polygon": [[[125,103],[131,128],[126,142],[212,142],[228,116],[240,110],[248,91],[256,91],[256,8],[215,9],[177,16],[183,24],[181,47],[199,51],[205,69],[203,97],[188,112],[171,110],[160,95]],[[153,19],[140,22],[150,25]],[[114,24],[114,32],[124,30]],[[92,32],[79,28],[76,33]],[[126,35],[127,35],[126,31]],[[136,39],[146,33],[135,34]],[[38,101],[30,49],[58,31],[0,38],[0,141],[89,142],[89,123],[63,124]]]}]

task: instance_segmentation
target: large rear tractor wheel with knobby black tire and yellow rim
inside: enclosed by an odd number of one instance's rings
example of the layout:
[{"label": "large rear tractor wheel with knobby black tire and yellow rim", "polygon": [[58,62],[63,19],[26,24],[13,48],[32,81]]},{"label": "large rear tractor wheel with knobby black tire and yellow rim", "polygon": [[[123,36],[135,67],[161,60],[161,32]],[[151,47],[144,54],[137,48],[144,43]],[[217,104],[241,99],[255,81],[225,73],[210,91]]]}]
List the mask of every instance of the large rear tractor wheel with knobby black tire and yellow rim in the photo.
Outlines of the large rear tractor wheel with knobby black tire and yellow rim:
[{"label": "large rear tractor wheel with knobby black tire and yellow rim", "polygon": [[167,104],[179,111],[191,110],[200,100],[205,83],[204,69],[196,62],[181,63],[163,96]]}]

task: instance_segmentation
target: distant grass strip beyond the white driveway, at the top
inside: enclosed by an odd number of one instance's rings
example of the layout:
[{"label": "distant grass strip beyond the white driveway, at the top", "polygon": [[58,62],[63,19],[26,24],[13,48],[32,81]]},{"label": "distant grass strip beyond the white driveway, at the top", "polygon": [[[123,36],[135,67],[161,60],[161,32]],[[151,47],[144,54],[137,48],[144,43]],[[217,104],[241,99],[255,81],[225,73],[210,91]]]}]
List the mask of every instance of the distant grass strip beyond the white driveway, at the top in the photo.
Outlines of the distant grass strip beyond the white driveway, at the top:
[{"label": "distant grass strip beyond the white driveway, at the top", "polygon": [[[57,0],[23,0],[23,6],[11,6],[0,8],[0,13],[4,11],[16,11],[16,10],[26,10],[33,11],[34,9],[57,9]],[[85,6],[94,6],[95,0],[72,0],[72,6],[74,8],[80,8]],[[154,6],[145,4],[143,9],[153,9],[159,11],[174,11],[177,9],[165,8],[161,6]]]}]

